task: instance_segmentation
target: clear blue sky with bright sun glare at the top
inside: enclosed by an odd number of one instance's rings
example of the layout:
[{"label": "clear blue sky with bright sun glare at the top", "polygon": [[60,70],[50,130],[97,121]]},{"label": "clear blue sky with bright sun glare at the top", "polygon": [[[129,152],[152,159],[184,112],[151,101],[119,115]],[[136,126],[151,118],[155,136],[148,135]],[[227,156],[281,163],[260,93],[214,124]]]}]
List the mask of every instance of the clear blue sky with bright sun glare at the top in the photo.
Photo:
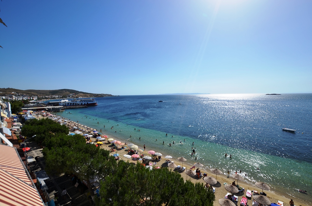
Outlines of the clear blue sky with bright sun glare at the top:
[{"label": "clear blue sky with bright sun glare at the top", "polygon": [[310,0],[0,2],[0,88],[312,91]]}]

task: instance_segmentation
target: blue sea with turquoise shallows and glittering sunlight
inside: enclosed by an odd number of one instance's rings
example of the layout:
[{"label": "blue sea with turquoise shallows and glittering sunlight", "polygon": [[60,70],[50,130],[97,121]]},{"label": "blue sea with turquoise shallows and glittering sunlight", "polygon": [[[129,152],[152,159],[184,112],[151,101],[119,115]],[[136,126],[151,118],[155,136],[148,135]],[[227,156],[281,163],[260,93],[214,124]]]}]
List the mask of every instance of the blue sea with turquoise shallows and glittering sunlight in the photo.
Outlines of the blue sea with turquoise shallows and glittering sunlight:
[{"label": "blue sea with turquoise shallows and glittering sunlight", "polygon": [[[273,191],[312,202],[312,94],[144,95],[96,101],[97,106],[56,114],[124,142],[184,157],[184,166],[201,162],[204,169],[218,168],[225,175],[241,170],[248,183],[265,182]],[[296,132],[282,131],[285,127]]]}]

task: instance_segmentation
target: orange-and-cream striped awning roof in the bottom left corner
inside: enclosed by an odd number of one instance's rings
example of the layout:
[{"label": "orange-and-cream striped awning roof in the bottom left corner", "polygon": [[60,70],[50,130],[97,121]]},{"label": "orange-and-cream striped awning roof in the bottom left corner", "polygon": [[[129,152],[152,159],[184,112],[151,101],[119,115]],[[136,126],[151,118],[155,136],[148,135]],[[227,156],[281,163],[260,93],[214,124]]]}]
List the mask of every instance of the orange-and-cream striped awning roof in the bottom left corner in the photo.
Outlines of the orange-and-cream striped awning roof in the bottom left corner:
[{"label": "orange-and-cream striped awning roof in the bottom left corner", "polygon": [[0,145],[0,205],[44,205],[15,147]]}]

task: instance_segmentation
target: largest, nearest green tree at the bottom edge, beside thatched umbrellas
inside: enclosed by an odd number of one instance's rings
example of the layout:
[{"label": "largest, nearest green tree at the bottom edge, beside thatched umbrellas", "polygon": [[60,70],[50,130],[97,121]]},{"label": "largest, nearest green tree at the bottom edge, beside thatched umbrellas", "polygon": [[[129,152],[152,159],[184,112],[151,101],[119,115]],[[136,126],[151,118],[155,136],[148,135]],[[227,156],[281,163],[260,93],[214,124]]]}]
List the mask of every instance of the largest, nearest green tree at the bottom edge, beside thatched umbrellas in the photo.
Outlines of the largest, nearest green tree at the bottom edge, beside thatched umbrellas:
[{"label": "largest, nearest green tree at the bottom edge, beside thatched umbrellas", "polygon": [[212,190],[207,190],[202,183],[195,185],[184,182],[177,172],[167,168],[149,171],[120,161],[112,175],[100,183],[102,205],[207,205],[212,206],[215,198]]}]

